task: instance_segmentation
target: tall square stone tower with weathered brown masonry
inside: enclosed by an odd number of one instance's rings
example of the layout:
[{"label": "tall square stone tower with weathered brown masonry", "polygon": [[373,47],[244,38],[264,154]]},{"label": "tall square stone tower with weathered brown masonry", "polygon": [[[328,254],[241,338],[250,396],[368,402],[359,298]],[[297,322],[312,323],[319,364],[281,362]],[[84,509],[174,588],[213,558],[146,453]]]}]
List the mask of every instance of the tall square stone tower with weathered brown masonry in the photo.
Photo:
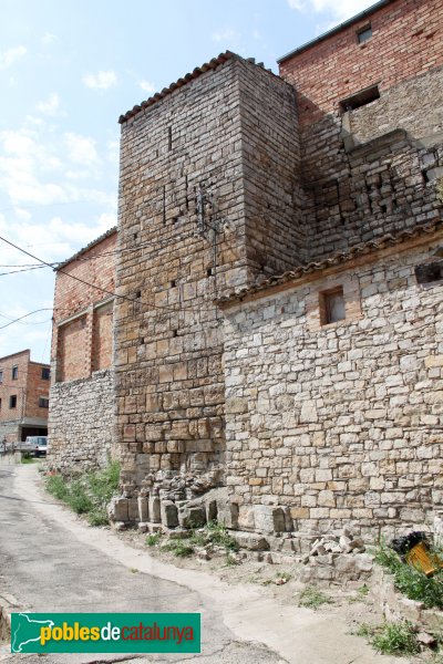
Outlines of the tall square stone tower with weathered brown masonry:
[{"label": "tall square stone tower with weathered brown masonry", "polygon": [[[290,149],[279,156],[270,126],[275,108],[282,120],[276,131],[296,149],[293,112],[284,120],[279,108],[293,100],[284,81],[227,55],[122,120],[117,289],[127,300],[116,302],[115,344],[126,495],[154,487],[179,500],[223,483],[223,335],[213,301],[247,286],[279,253],[270,247],[257,258],[264,237],[257,251],[246,249],[248,188],[266,188],[254,174],[261,165],[249,156],[258,141],[248,120],[253,103],[260,116],[256,86],[268,108],[259,149],[269,190],[254,209],[264,219],[268,205],[277,210],[282,188],[290,195],[296,186],[285,165]],[[267,240],[291,216],[272,212]],[[287,247],[279,264],[290,267],[298,252]]]}]

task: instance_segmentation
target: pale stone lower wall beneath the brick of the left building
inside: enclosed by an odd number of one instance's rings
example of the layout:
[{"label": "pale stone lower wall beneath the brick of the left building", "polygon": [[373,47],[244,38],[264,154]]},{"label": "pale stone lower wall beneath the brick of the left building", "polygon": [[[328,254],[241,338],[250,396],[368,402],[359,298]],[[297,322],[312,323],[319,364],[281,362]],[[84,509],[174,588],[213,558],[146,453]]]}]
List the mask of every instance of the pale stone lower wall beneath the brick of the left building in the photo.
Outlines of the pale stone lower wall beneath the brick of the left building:
[{"label": "pale stone lower wall beneath the brick of the left building", "polygon": [[117,457],[113,447],[114,373],[93,373],[89,380],[54,383],[48,435],[51,468],[64,473],[84,471]]}]

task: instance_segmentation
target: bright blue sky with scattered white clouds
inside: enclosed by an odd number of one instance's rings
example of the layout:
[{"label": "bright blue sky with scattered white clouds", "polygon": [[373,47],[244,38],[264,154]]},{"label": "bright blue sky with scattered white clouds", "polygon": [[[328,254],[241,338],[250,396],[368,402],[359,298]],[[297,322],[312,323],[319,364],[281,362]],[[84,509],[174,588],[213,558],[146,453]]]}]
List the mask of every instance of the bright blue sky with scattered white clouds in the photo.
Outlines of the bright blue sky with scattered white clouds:
[{"label": "bright blue sky with scattered white clouds", "polygon": [[373,3],[0,0],[0,357],[50,360],[54,271],[37,259],[116,225],[121,114],[227,49],[278,73]]}]

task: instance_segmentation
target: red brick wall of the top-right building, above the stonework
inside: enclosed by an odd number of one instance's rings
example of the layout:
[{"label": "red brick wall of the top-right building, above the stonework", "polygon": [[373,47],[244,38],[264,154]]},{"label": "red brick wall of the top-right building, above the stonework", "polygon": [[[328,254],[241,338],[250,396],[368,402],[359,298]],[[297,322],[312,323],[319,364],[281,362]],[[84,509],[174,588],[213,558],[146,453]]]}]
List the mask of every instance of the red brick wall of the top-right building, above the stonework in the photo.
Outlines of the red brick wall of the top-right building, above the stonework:
[{"label": "red brick wall of the top-right building, above the stonework", "polygon": [[[369,21],[372,38],[359,44]],[[312,124],[365,87],[379,83],[383,93],[442,65],[442,0],[396,0],[280,60],[280,75],[297,89],[300,124]]]}]

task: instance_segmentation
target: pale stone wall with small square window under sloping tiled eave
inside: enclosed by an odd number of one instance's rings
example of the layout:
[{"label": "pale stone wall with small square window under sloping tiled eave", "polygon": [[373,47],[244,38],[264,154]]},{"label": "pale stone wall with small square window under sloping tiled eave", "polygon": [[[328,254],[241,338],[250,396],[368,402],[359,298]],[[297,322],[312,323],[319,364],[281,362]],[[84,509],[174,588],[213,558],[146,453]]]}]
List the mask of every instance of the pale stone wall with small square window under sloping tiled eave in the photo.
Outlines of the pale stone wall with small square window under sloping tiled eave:
[{"label": "pale stone wall with small square window under sloping tiled eave", "polygon": [[[239,528],[260,530],[267,510],[275,530],[374,536],[441,509],[443,282],[418,284],[414,268],[442,247],[385,249],[224,311]],[[321,325],[321,293],[338,286],[347,318]]]}]

